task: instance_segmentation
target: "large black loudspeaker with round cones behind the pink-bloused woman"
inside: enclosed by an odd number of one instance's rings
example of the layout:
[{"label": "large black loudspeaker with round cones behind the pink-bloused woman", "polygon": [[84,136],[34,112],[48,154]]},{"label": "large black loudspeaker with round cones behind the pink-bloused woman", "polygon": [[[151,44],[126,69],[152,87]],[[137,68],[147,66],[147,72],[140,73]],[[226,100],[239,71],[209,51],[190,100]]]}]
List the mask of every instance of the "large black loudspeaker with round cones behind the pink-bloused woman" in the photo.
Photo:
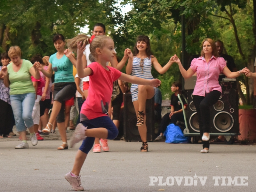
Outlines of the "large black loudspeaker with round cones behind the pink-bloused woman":
[{"label": "large black loudspeaker with round cones behind the pink-bloused woman", "polygon": [[[238,91],[222,86],[220,99],[211,107],[210,133],[239,134]],[[188,129],[199,133],[198,116],[193,103],[193,91],[188,91]]]}]

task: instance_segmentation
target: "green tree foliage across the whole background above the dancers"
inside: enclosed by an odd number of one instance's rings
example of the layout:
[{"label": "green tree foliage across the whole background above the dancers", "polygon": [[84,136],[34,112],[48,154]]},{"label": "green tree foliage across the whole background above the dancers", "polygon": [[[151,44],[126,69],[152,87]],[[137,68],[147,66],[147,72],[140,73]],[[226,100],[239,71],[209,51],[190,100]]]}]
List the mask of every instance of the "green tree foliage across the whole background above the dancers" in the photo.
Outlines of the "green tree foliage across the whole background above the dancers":
[{"label": "green tree foliage across the whole background above the dancers", "polygon": [[[125,48],[133,49],[138,35],[150,37],[151,49],[164,66],[173,54],[181,56],[181,15],[185,16],[186,51],[200,54],[201,42],[209,37],[224,42],[238,69],[253,70],[256,55],[255,0],[124,0],[133,9],[121,14],[117,0],[5,0],[0,6],[0,51],[19,45],[23,58],[33,54],[51,55],[56,52],[52,37],[62,33],[72,38],[89,26],[91,35],[95,23],[104,23],[107,35],[114,39],[118,57]],[[119,2],[120,3],[120,2]],[[186,64],[185,64],[186,65]],[[123,72],[125,69],[123,69]],[[154,77],[162,80],[164,98],[170,97],[173,81],[180,80],[178,66]],[[252,95],[252,80],[239,77]],[[251,100],[252,101],[252,100]]]}]

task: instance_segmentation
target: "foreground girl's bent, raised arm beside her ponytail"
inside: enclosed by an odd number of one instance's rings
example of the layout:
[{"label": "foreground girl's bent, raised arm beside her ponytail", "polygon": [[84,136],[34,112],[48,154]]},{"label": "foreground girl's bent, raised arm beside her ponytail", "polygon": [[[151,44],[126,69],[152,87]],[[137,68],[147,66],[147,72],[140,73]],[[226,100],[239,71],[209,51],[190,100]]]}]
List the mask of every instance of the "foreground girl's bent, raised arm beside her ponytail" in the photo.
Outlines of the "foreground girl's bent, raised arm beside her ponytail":
[{"label": "foreground girl's bent, raised arm beside her ponytail", "polygon": [[83,55],[84,55],[84,50],[85,50],[85,44],[82,45],[82,42],[77,43],[77,63],[76,63],[76,71],[77,75],[80,78],[84,78],[86,76],[91,75],[92,69],[91,68],[85,68],[83,65]]}]

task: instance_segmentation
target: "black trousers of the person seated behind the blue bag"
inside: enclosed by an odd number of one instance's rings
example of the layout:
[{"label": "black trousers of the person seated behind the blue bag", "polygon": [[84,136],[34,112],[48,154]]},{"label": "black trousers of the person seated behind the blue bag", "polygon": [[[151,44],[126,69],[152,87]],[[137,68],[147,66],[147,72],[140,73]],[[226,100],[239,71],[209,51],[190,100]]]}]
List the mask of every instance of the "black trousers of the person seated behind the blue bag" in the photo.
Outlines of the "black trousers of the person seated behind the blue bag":
[{"label": "black trousers of the person seated behind the blue bag", "polygon": [[171,116],[171,119],[170,119],[170,113],[166,113],[164,116],[163,116],[163,119],[160,123],[160,127],[159,127],[159,130],[158,130],[158,135],[160,135],[160,133],[164,133],[164,131],[166,130],[166,127],[169,125],[169,124],[175,124],[176,125],[176,122],[177,121],[183,121],[184,122],[184,116],[183,116],[183,113],[175,113]]}]

